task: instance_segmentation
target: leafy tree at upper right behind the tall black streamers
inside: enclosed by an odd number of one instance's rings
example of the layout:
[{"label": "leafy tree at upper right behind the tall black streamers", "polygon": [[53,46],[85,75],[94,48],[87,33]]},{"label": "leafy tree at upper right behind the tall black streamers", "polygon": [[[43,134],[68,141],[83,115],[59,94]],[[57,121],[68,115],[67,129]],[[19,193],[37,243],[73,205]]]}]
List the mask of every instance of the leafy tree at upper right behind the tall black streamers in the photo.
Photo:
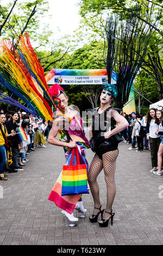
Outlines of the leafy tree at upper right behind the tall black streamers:
[{"label": "leafy tree at upper right behind the tall black streamers", "polygon": [[[160,27],[163,24],[163,21],[161,19],[161,15],[158,15],[158,11],[162,8],[162,0],[159,1],[150,1],[150,0],[143,0],[143,1],[131,1],[130,3],[126,0],[121,1],[107,1],[107,0],[81,0],[80,1],[80,15],[83,17],[84,22],[87,24],[87,26],[90,26],[92,29],[98,29],[99,27],[99,18],[100,16],[104,17],[108,12],[117,13],[120,12],[124,14],[125,19],[125,13],[127,11],[131,11],[130,6],[133,4],[140,4],[143,11],[148,14],[153,14],[153,20],[159,19],[160,20]],[[91,19],[89,19],[91,17]],[[102,19],[102,18],[101,18]],[[103,18],[104,19],[104,18]],[[141,16],[138,16],[138,19],[143,20],[147,25],[149,23],[152,25],[153,22],[149,22],[148,19],[142,19]],[[153,25],[152,25],[153,26]],[[147,56],[144,59],[142,69],[147,72],[148,75],[152,76],[157,84],[158,87],[158,99],[161,100],[163,98],[163,85],[162,85],[162,78],[163,78],[163,72],[162,72],[162,60],[161,60],[161,54],[159,45],[161,44],[161,38],[162,38],[162,30],[160,27],[155,27],[155,33],[152,36],[151,41],[149,42],[148,50],[147,50]],[[101,32],[99,31],[99,34]],[[139,75],[138,75],[139,76]]]}]

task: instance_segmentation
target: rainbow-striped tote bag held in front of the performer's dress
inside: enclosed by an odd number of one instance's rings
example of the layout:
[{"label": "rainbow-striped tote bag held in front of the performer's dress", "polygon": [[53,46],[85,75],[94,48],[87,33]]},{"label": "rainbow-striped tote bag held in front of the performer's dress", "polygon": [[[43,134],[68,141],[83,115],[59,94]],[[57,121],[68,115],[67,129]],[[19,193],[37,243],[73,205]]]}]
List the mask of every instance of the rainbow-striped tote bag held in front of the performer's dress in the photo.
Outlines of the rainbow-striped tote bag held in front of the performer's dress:
[{"label": "rainbow-striped tote bag held in front of the performer's dress", "polygon": [[[72,165],[74,151],[76,152],[77,164]],[[80,163],[78,149],[72,149],[71,162],[69,166],[62,169],[62,193],[61,196],[89,194],[87,189],[86,164]]]}]

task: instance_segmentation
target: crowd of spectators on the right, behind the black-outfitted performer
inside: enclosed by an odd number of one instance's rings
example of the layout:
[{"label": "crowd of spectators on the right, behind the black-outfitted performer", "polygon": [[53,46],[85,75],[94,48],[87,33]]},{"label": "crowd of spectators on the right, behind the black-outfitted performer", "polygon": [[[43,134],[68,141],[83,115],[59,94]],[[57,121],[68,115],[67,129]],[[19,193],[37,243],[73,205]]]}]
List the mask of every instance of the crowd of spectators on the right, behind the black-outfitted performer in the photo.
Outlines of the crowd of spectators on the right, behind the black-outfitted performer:
[{"label": "crowd of spectators on the right, behind the black-outfitted performer", "polygon": [[[126,114],[121,112],[129,126],[121,132],[123,142],[131,144],[128,150],[136,149],[137,153],[142,153],[144,149],[151,152],[152,169],[151,173],[162,175],[162,155],[163,155],[163,108],[151,108],[144,116],[143,114],[132,112]],[[137,147],[136,147],[137,144]]]}]

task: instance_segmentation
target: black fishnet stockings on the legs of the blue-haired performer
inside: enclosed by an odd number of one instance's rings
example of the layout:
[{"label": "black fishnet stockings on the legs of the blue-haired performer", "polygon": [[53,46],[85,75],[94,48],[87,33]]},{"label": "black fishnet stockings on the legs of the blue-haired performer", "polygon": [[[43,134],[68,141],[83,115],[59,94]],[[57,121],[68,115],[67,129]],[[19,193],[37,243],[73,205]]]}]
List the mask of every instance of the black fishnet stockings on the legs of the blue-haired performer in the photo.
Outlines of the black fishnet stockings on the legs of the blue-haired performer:
[{"label": "black fishnet stockings on the legs of the blue-haired performer", "polygon": [[[99,187],[97,184],[97,176],[104,168],[106,189],[107,189],[107,203],[105,211],[111,212],[112,203],[116,194],[116,187],[114,181],[115,167],[116,167],[116,158],[118,156],[118,149],[114,151],[109,151],[103,154],[103,160],[99,159],[97,155],[94,156],[88,174],[88,181],[90,185],[90,190],[94,200],[96,208],[101,206],[99,200]],[[103,210],[103,208],[101,208]],[[94,209],[93,214],[97,215],[99,210]],[[107,220],[111,215],[104,212],[103,218]],[[90,216],[91,217],[91,216]]]}]

